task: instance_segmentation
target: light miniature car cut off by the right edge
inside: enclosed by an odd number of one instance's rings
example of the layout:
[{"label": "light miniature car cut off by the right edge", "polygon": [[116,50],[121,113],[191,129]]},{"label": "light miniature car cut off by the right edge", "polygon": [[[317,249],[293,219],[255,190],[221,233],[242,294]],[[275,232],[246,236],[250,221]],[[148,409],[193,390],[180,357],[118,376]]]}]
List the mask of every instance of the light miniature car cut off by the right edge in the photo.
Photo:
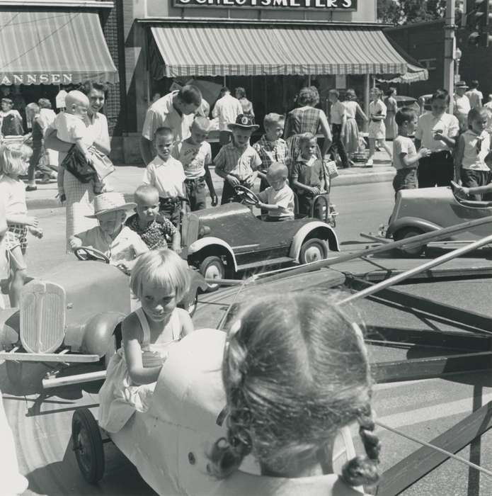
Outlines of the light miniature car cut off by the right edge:
[{"label": "light miniature car cut off by the right edge", "polygon": [[[398,241],[489,215],[492,215],[492,202],[459,198],[450,187],[405,189],[396,195],[386,237]],[[489,234],[490,225],[484,224],[452,234],[442,241],[470,242]],[[418,256],[424,249],[425,245],[421,245],[403,251]]]}]

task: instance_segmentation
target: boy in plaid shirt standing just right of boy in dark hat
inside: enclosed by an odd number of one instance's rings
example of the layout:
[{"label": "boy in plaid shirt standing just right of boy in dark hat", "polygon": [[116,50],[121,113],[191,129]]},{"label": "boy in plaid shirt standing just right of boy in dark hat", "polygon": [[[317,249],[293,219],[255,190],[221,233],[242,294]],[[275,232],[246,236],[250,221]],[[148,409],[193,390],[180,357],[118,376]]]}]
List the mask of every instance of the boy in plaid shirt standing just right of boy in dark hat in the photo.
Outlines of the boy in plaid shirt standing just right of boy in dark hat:
[{"label": "boy in plaid shirt standing just right of boy in dark hat", "polygon": [[258,176],[261,177],[260,191],[268,188],[266,174],[268,167],[274,162],[290,166],[290,153],[287,143],[282,140],[284,133],[285,118],[278,113],[268,113],[263,119],[263,128],[265,134],[253,145],[261,159],[261,171]]}]

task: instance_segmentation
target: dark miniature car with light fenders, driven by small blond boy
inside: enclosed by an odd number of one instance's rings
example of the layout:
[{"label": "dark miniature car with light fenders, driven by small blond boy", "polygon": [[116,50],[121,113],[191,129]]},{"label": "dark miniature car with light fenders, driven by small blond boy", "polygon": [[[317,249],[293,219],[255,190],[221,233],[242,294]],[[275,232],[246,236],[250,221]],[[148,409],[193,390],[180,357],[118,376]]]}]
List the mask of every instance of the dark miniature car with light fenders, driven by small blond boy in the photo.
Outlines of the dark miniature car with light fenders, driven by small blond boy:
[{"label": "dark miniature car with light fenders, driven by small blond boy", "polygon": [[[239,191],[248,203],[257,203],[253,191],[243,186]],[[327,201],[325,206],[329,210]],[[307,264],[326,259],[329,251],[340,251],[336,233],[326,222],[299,215],[294,220],[265,222],[241,203],[186,214],[181,242],[188,247],[188,264],[205,279],[231,278],[237,272],[267,266]]]}]

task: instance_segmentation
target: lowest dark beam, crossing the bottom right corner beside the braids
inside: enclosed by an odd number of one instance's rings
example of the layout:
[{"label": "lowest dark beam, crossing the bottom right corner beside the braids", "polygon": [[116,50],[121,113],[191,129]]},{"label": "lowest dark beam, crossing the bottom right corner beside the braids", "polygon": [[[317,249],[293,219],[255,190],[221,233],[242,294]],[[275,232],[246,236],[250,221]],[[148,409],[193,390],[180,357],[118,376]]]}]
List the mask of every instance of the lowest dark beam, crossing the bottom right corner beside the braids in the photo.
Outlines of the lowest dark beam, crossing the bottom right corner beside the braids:
[{"label": "lowest dark beam, crossing the bottom right corner beside the braids", "polygon": [[[462,419],[451,429],[437,436],[430,443],[450,453],[457,453],[491,427],[492,402],[489,402]],[[399,495],[431,470],[440,466],[447,458],[447,455],[437,453],[427,446],[414,451],[382,474],[377,495]]]}]

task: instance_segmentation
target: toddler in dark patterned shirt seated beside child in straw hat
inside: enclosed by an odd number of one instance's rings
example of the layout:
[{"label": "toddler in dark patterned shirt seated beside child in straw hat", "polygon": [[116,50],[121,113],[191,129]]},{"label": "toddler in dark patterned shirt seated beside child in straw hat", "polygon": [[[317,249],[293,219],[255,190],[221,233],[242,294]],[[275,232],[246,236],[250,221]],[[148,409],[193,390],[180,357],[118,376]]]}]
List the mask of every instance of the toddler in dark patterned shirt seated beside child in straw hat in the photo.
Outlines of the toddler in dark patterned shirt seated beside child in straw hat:
[{"label": "toddler in dark patterned shirt seated beside child in straw hat", "polygon": [[135,231],[149,249],[167,248],[172,238],[172,250],[181,254],[181,236],[171,220],[159,215],[159,191],[154,186],[139,186],[135,191],[137,213],[127,218],[125,225]]}]

